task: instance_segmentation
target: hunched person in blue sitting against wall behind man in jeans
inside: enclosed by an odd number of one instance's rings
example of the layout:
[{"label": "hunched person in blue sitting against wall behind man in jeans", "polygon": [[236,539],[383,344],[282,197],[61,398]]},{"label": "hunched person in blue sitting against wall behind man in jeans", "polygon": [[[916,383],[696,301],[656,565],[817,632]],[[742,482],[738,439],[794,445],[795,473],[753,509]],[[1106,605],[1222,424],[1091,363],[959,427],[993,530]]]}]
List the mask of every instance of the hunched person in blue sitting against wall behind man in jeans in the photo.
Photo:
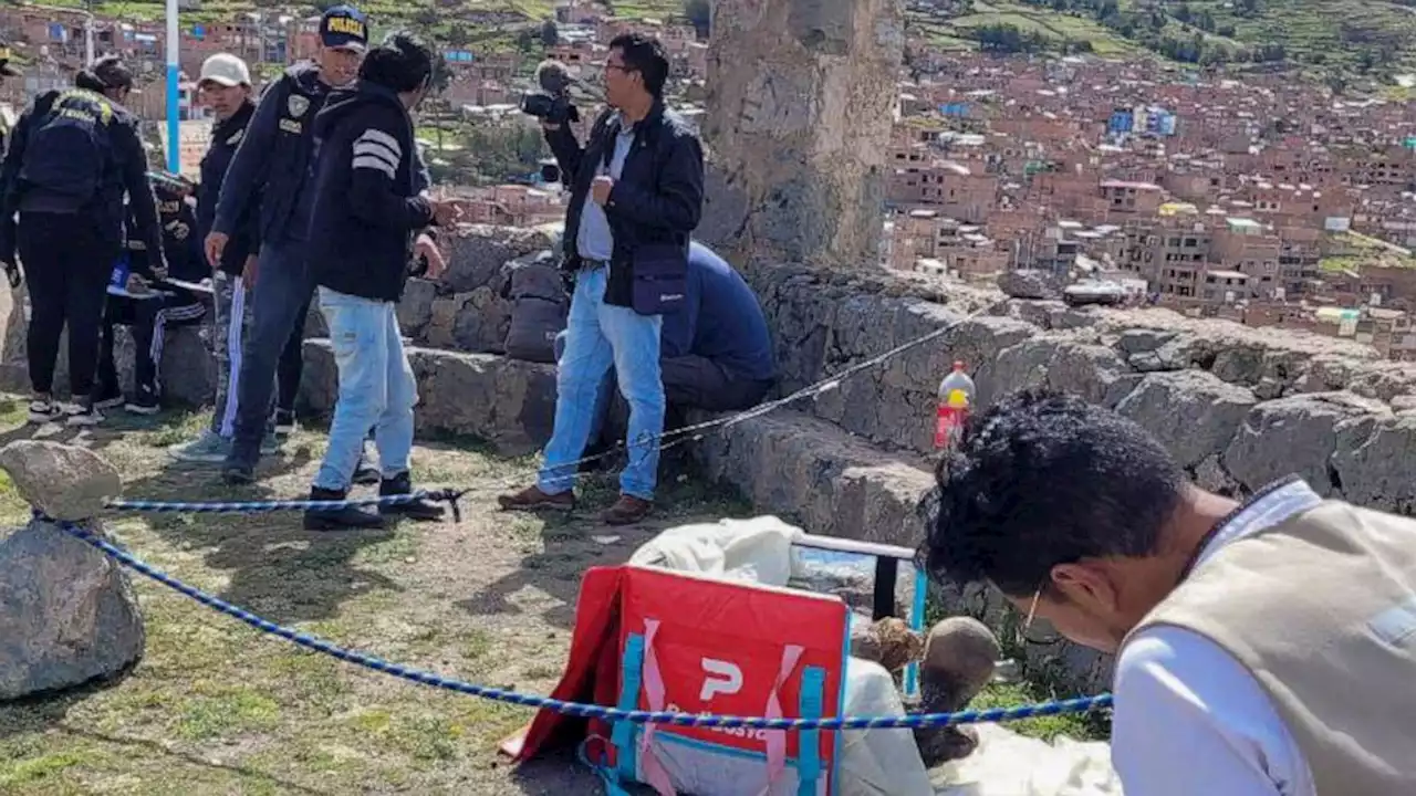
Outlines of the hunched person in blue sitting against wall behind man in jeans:
[{"label": "hunched person in blue sitting against wall behind man in jeans", "polygon": [[[772,334],[758,295],[728,261],[702,244],[688,249],[684,309],[664,316],[658,370],[670,409],[736,412],[762,402],[776,380]],[[566,333],[555,339],[555,357]],[[613,375],[596,397],[595,431],[609,409]]]}]

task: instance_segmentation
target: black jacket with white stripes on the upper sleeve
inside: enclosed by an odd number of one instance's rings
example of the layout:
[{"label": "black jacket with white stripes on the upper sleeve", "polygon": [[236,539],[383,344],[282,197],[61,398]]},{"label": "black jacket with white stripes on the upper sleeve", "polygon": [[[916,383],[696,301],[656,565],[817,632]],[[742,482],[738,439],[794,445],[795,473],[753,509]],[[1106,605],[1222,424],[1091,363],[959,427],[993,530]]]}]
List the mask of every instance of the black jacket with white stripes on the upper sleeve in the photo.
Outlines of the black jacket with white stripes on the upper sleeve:
[{"label": "black jacket with white stripes on the upper sleeve", "polygon": [[396,93],[360,81],[330,95],[314,137],[307,249],[314,283],[396,302],[413,235],[432,222],[413,122]]}]

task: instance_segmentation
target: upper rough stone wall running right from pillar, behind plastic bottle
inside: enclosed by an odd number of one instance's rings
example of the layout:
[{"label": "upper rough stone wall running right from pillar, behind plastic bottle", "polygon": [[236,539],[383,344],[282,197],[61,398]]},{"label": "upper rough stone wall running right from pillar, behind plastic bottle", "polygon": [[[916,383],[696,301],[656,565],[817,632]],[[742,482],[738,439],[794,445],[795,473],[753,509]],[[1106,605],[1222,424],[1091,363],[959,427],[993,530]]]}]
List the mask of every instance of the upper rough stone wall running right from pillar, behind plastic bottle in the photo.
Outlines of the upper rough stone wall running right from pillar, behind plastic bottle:
[{"label": "upper rough stone wall running right from pillar, behind plastic bottle", "polygon": [[1406,463],[1416,365],[1366,346],[1168,310],[930,296],[916,283],[800,266],[749,275],[776,331],[784,391],[957,324],[799,406],[882,448],[929,453],[939,380],[963,360],[980,404],[1034,385],[1080,392],[1148,428],[1211,489],[1245,494],[1294,472],[1325,494],[1416,510]]}]

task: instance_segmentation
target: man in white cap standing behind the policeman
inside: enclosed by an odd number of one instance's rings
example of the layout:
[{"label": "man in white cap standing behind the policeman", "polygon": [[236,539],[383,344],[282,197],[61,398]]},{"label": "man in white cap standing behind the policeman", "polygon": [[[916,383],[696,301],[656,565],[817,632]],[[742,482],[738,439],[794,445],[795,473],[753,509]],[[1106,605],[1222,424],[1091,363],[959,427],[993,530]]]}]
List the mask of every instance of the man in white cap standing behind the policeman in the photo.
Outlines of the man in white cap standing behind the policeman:
[{"label": "man in white cap standing behind the policeman", "polygon": [[[251,69],[241,58],[218,52],[201,65],[197,81],[201,101],[211,108],[215,125],[211,129],[211,149],[201,159],[201,186],[197,191],[197,239],[204,241],[217,220],[217,200],[227,177],[227,169],[246,135],[246,125],[255,116],[251,99]],[[251,203],[236,220],[236,232],[227,241],[221,259],[212,271],[212,354],[217,360],[217,401],[211,425],[201,436],[169,449],[178,462],[219,465],[231,453],[231,438],[236,422],[236,385],[241,374],[241,343],[251,326],[244,275],[256,273],[256,252],[261,248],[261,214]],[[296,351],[299,357],[299,351]],[[273,449],[273,438],[268,436]]]}]

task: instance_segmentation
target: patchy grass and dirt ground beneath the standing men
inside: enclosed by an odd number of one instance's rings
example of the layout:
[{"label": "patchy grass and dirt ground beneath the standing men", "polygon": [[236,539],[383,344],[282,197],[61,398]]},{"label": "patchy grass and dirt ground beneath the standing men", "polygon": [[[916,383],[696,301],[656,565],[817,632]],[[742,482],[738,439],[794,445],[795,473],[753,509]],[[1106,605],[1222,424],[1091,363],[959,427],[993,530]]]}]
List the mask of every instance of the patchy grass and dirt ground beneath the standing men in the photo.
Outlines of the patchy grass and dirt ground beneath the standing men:
[{"label": "patchy grass and dirt ground beneath the standing men", "polygon": [[[0,445],[33,436],[88,445],[119,469],[127,497],[297,496],[324,445],[299,433],[259,486],[234,493],[211,472],[174,469],[163,453],[200,426],[198,415],[119,414],[75,436],[23,425],[23,408],[0,399]],[[122,516],[108,528],[161,569],[276,622],[474,683],[547,693],[565,660],[585,568],[626,559],[658,528],[746,516],[749,507],[684,477],[668,490],[673,510],[640,528],[493,511],[493,494],[530,466],[463,440],[419,445],[423,482],[476,487],[460,524],[319,535],[292,514]],[[612,490],[595,482],[588,499],[607,501]],[[0,476],[0,525],[18,527],[27,516]],[[568,758],[515,772],[497,756],[530,711],[304,653],[157,584],[135,585],[147,620],[144,659],[106,687],[0,705],[0,793],[599,792]],[[980,704],[1039,695],[1048,694],[1005,686]],[[1086,727],[1051,718],[1024,729],[1076,735]]]}]

